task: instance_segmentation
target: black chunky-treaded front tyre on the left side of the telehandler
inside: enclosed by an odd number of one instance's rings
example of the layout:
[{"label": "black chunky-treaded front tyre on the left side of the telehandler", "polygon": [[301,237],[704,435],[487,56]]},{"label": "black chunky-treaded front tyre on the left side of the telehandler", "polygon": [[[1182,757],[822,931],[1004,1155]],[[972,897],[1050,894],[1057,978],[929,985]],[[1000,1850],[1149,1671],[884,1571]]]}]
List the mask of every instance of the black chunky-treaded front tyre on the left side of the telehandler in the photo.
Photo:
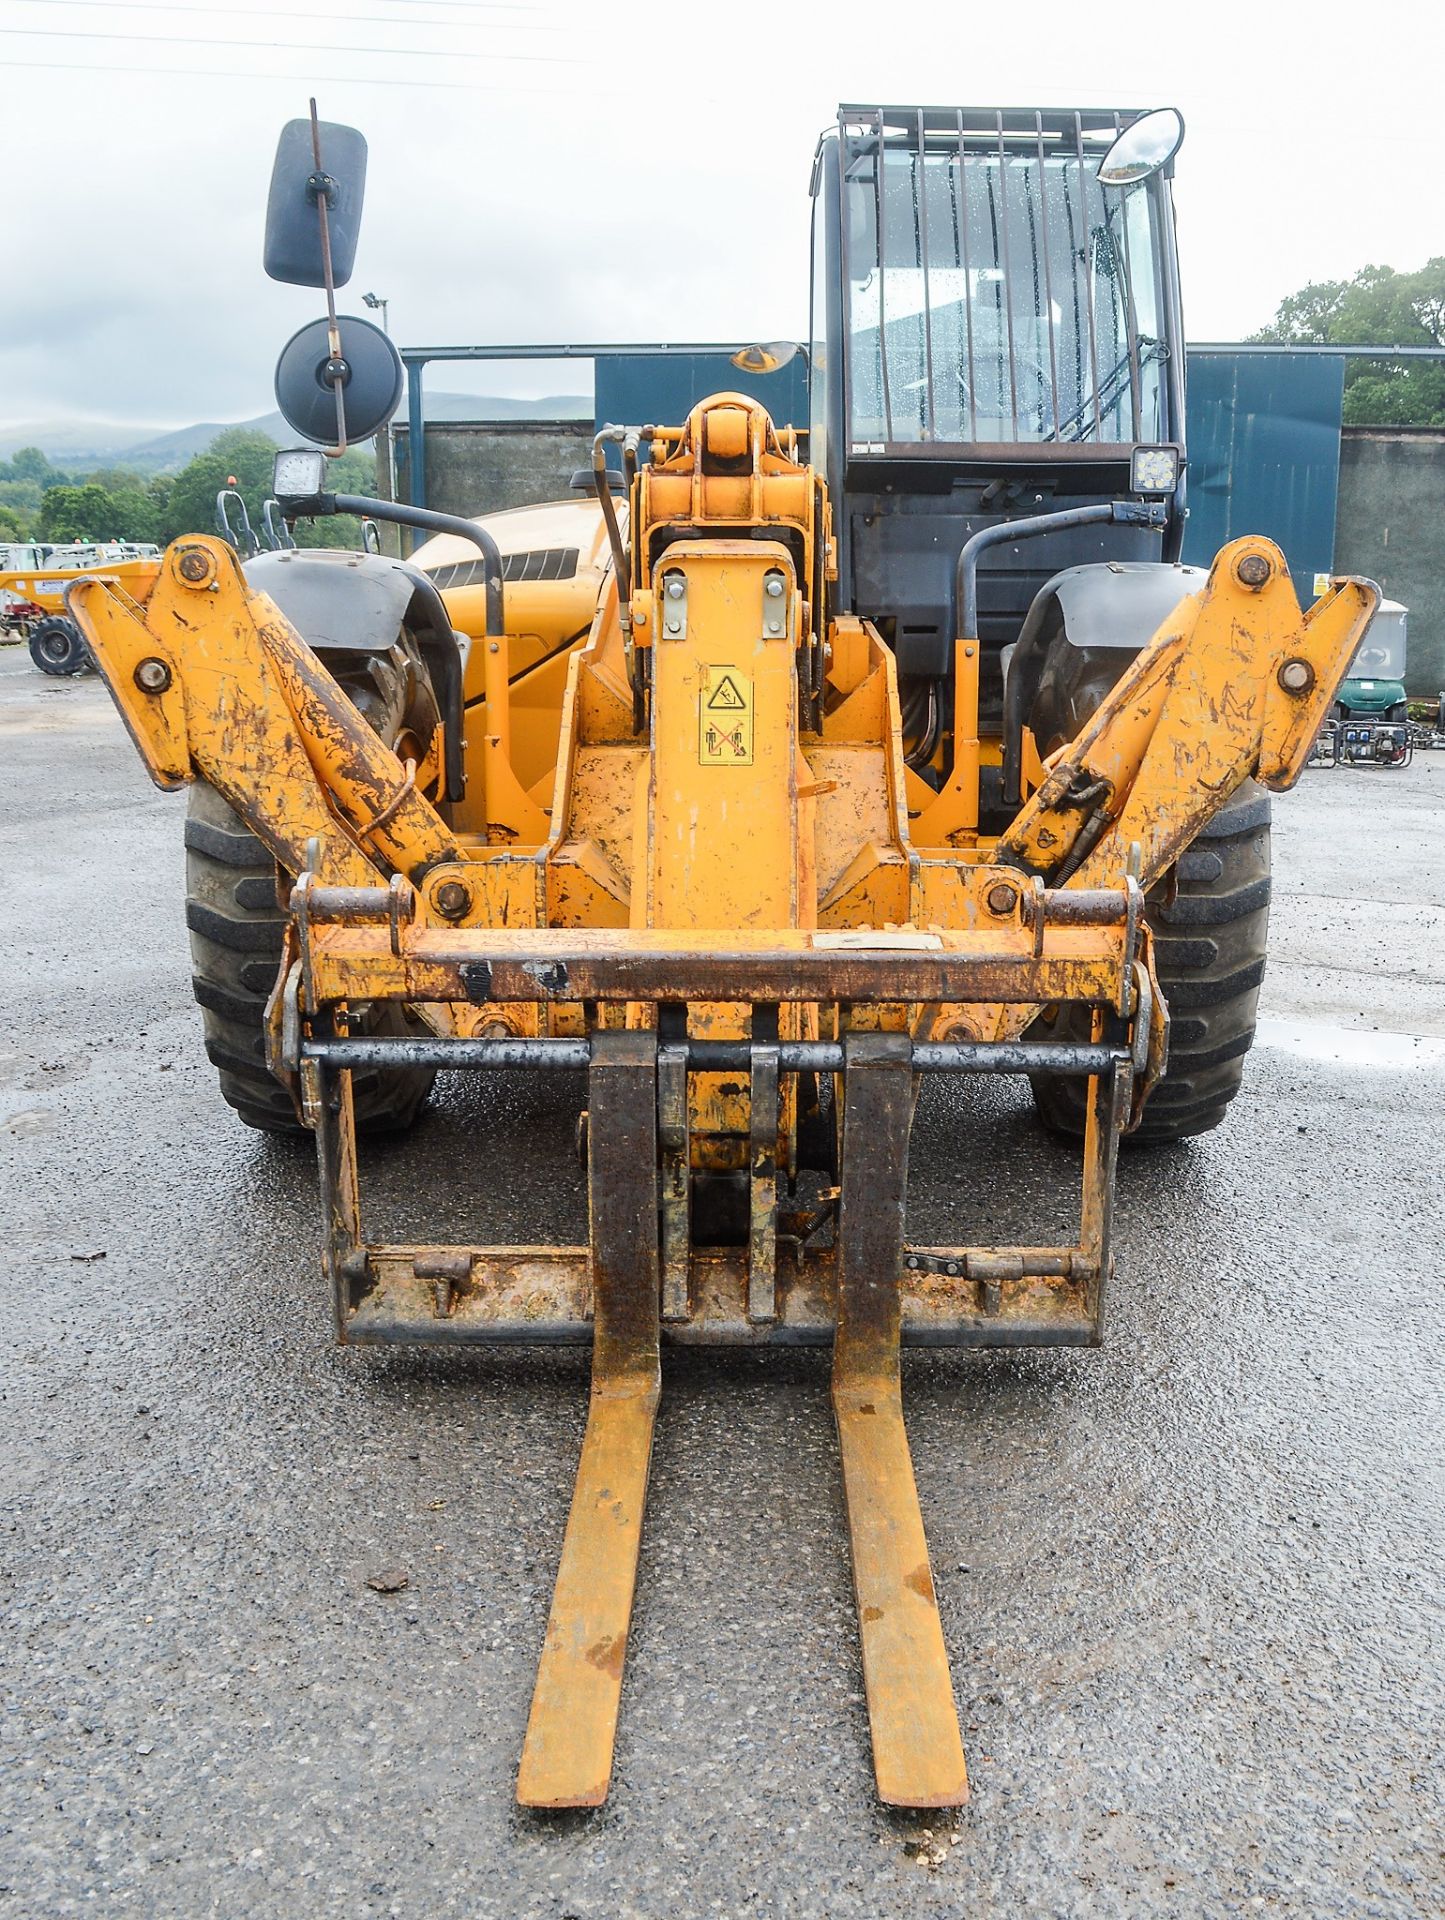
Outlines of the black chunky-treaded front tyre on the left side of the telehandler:
[{"label": "black chunky-treaded front tyre on the left side of the telehandler", "polygon": [[[303,1133],[292,1098],[265,1060],[265,1006],[276,983],[286,912],[276,899],[276,864],[223,801],[196,780],[186,810],[186,925],[192,989],[205,1025],[205,1052],[223,1098],[248,1127]],[[363,1012],[361,1033],[407,1033],[397,1006]],[[430,1068],[357,1069],[351,1094],[357,1127],[399,1133],[413,1123],[432,1089]]]}]

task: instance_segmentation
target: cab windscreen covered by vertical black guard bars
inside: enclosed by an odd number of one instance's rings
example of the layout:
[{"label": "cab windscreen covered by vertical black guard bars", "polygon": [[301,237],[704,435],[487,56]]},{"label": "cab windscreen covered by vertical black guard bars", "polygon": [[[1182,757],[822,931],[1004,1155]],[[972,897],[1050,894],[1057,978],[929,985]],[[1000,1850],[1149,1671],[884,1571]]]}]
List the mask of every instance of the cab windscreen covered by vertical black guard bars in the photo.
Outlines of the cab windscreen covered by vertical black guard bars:
[{"label": "cab windscreen covered by vertical black guard bars", "polygon": [[1073,150],[841,152],[854,453],[1167,438],[1146,182]]}]

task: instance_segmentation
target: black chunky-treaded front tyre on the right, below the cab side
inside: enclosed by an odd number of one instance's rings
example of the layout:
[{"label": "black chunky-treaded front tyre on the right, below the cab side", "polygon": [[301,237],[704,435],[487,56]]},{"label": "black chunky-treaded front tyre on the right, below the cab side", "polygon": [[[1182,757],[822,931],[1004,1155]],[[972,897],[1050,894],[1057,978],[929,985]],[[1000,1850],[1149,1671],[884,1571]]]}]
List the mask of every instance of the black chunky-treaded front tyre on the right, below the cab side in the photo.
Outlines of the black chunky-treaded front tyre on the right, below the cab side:
[{"label": "black chunky-treaded front tyre on the right, below the cab side", "polygon": [[[1134,1133],[1125,1135],[1134,1144],[1163,1146],[1209,1133],[1240,1091],[1265,977],[1268,822],[1268,793],[1245,781],[1180,854],[1178,887],[1165,879],[1146,897],[1171,1033],[1169,1069]],[[1061,1012],[1050,1021],[1048,1037],[1088,1039],[1088,1016]],[[1086,1087],[1086,1081],[1054,1075],[1034,1079],[1034,1106],[1044,1125],[1080,1135]]]}]

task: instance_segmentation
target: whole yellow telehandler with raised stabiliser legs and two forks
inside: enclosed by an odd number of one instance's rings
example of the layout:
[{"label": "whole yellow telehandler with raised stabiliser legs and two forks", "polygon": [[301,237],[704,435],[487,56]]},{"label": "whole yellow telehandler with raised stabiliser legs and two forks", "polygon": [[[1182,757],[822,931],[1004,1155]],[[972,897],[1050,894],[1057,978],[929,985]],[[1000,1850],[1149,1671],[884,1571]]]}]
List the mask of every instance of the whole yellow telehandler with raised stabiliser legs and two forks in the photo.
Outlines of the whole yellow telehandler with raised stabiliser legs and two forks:
[{"label": "whole yellow telehandler with raised stabiliser legs and two forks", "polygon": [[[1263,789],[1378,599],[1301,614],[1259,538],[1180,564],[1180,138],[842,108],[806,453],[714,394],[604,428],[595,501],[468,522],[330,493],[297,447],[288,518],[401,520],[418,563],[196,536],[144,599],[67,595],[152,778],[192,785],[211,1054],[244,1119],[315,1133],[338,1338],[591,1346],[528,1807],[608,1789],[675,1344],[831,1346],[877,1789],[967,1795],[900,1348],[1100,1340],[1119,1140],[1238,1087]],[[334,311],[363,163],[292,123],[271,200],[269,269],[328,290],[278,394],[338,444],[399,386]],[[587,1244],[368,1240],[359,1127],[499,1068],[585,1073]],[[910,1240],[927,1073],[1030,1077],[1080,1140],[1069,1244]]]}]

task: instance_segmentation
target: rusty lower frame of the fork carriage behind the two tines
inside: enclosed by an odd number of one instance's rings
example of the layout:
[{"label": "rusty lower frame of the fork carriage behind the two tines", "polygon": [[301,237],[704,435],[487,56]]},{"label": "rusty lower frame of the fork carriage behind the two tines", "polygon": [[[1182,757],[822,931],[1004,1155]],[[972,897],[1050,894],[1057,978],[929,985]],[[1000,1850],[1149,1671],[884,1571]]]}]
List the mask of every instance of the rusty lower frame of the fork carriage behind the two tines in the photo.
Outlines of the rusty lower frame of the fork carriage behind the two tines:
[{"label": "rusty lower frame of the fork carriage behind the two tines", "polygon": [[[1094,1346],[1100,1340],[1103,1288],[1109,1279],[1109,1215],[1117,1140],[1130,1112],[1136,1062],[1113,1044],[1125,1021],[1098,1014],[1100,1039],[1075,1046],[1069,1071],[1088,1073],[1082,1150],[1080,1221],[1073,1246],[910,1246],[890,1248],[890,1284],[898,1290],[900,1338],[908,1346]],[[597,1037],[618,1044],[618,1029]],[[837,1048],[839,1068],[862,1043]],[[919,1046],[908,1035],[885,1035],[890,1056],[912,1081]],[[635,1044],[654,1043],[643,1029]],[[332,1281],[338,1336],[351,1344],[587,1344],[595,1325],[593,1261],[580,1246],[368,1246],[361,1238],[355,1133],[349,1108],[345,1043],[311,1043],[319,1058],[301,1066],[303,1104],[317,1127],[326,1271]],[[455,1044],[455,1043],[453,1043]],[[547,1044],[547,1043],[537,1043]],[[557,1043],[553,1043],[557,1044]],[[677,1346],[825,1344],[841,1315],[837,1248],[810,1246],[806,1217],[779,1210],[775,1179],[746,1248],[691,1244],[687,1135],[687,1041],[656,1052],[656,1146],[660,1148],[660,1233],[654,1233],[662,1332]],[[748,1043],[727,1043],[748,1048]],[[791,1044],[777,1046],[779,1056]],[[816,1044],[816,1043],[802,1043]],[[829,1044],[829,1043],[823,1043]],[[332,1052],[336,1048],[336,1052]],[[750,1050],[750,1048],[748,1048]],[[762,1044],[762,1094],[768,1098],[771,1043]],[[940,1048],[946,1052],[946,1048]],[[338,1060],[340,1054],[340,1060]],[[370,1056],[367,1056],[370,1058]],[[712,1066],[708,1056],[706,1066]],[[946,1062],[944,1062],[946,1064]],[[760,1102],[762,1114],[762,1102]],[[610,1129],[606,1104],[591,1129]],[[766,1160],[771,1125],[760,1117],[752,1158]],[[768,1135],[768,1140],[764,1139]],[[854,1135],[856,1139],[858,1135]],[[606,1146],[599,1148],[606,1154]],[[595,1169],[589,1152],[589,1167]],[[854,1200],[854,1208],[856,1208]],[[770,1252],[758,1238],[771,1227]],[[649,1256],[651,1258],[651,1256]],[[438,1288],[438,1277],[445,1288]],[[606,1311],[603,1313],[606,1323]]]}]

